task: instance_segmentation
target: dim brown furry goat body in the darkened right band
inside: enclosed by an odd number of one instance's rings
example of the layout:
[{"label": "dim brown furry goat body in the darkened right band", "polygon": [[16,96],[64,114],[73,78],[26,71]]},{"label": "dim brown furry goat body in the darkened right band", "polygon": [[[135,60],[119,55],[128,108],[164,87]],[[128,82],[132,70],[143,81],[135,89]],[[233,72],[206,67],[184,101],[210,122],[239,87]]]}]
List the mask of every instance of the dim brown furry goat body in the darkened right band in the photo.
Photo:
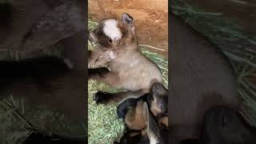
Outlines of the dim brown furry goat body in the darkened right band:
[{"label": "dim brown furry goat body in the darkened right band", "polygon": [[217,47],[174,14],[170,19],[170,130],[178,138],[196,138],[206,110],[238,109],[241,99],[234,71]]}]

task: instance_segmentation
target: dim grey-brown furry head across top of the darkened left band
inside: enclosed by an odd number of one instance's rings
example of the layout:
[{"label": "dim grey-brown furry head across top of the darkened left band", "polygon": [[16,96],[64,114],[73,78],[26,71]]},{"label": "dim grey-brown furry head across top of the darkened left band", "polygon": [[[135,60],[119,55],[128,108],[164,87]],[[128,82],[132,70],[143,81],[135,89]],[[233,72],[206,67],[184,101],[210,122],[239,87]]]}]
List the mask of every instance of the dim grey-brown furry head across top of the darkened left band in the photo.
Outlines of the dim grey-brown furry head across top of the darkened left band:
[{"label": "dim grey-brown furry head across top of the darkened left band", "polygon": [[19,58],[29,58],[30,52],[45,49],[86,28],[85,1],[11,2],[14,14],[8,27],[0,26],[0,49],[18,51]]}]

